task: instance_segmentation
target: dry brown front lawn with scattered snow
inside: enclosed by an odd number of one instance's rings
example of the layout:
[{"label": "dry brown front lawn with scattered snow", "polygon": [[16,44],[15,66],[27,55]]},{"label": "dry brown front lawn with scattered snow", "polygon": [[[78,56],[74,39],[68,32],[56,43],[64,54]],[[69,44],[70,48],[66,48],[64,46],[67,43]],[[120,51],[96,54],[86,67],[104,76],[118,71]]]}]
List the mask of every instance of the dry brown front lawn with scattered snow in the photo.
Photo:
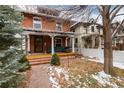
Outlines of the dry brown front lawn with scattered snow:
[{"label": "dry brown front lawn with scattered snow", "polygon": [[[92,75],[96,75],[98,74],[98,72],[103,71],[103,64],[101,63],[73,59],[73,62],[70,60],[69,66],[66,60],[66,62],[63,62],[61,64],[61,67],[64,67],[69,71],[70,82],[65,87],[69,87],[69,88],[113,87],[109,84],[103,85],[92,77]],[[114,76],[110,79],[110,82],[112,84],[116,84],[118,87],[124,87],[124,70],[114,67],[113,72],[114,72]]]}]

